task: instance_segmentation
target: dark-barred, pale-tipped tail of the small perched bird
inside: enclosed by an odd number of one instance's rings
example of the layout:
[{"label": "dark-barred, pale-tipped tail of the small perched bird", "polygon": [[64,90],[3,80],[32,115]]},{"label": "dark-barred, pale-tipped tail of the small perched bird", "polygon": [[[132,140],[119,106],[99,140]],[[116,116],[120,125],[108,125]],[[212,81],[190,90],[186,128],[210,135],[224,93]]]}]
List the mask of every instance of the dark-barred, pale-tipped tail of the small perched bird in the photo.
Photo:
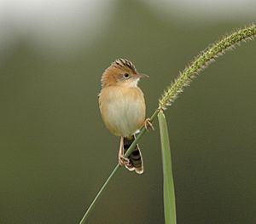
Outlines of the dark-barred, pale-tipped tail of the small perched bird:
[{"label": "dark-barred, pale-tipped tail of the small perched bird", "polygon": [[[131,146],[134,140],[135,140],[135,135],[124,138],[124,153],[128,150],[128,148]],[[142,174],[143,173],[143,156],[138,145],[135,146],[135,149],[133,150],[133,152],[131,152],[128,158],[130,159],[130,164],[125,165],[125,167],[131,171],[135,170],[137,174]]]}]

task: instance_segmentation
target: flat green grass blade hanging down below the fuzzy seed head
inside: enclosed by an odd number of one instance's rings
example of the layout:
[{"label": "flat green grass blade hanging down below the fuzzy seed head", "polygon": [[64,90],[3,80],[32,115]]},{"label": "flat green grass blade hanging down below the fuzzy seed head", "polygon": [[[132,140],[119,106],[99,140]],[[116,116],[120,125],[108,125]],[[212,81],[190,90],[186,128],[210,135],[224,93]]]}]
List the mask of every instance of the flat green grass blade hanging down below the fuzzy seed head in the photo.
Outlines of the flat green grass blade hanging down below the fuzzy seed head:
[{"label": "flat green grass blade hanging down below the fuzzy seed head", "polygon": [[164,112],[158,114],[160,126],[160,141],[162,150],[163,178],[164,178],[164,206],[166,224],[176,224],[176,206],[174,182],[172,176],[172,159],[169,144],[168,128]]}]

